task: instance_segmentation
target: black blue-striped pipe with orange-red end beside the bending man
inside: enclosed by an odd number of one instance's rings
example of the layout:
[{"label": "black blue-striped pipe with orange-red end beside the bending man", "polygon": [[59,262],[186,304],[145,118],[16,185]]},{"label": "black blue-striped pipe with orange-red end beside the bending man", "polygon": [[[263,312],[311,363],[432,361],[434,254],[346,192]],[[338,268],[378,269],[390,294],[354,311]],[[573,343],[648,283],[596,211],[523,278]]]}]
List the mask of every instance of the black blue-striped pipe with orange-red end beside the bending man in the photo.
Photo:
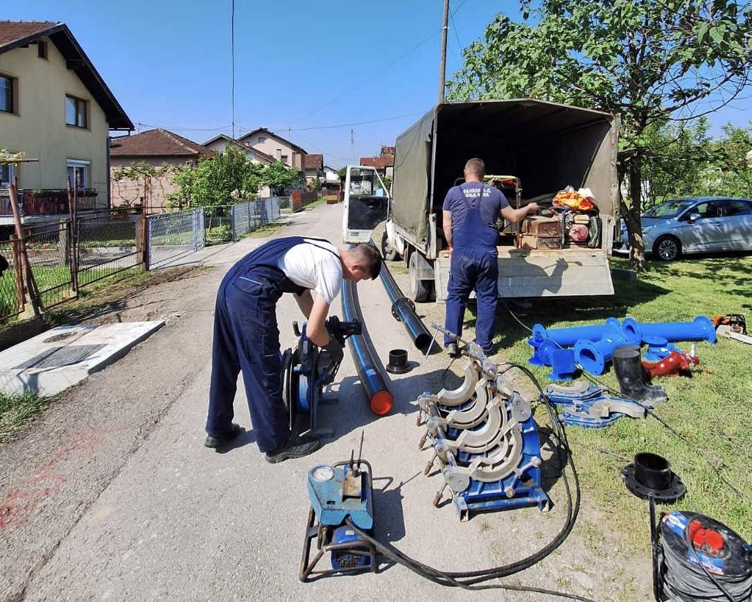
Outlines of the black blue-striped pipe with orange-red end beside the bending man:
[{"label": "black blue-striped pipe with orange-red end beside the bending man", "polygon": [[394,397],[387,389],[387,385],[381,377],[381,372],[379,372],[374,361],[374,357],[378,357],[378,354],[373,349],[368,330],[365,327],[365,321],[360,311],[358,290],[355,284],[348,280],[342,282],[342,315],[347,322],[357,320],[362,324],[362,334],[350,336],[347,339],[347,346],[353,356],[358,378],[368,396],[368,405],[371,406],[371,410],[375,414],[383,416],[392,409]]}]

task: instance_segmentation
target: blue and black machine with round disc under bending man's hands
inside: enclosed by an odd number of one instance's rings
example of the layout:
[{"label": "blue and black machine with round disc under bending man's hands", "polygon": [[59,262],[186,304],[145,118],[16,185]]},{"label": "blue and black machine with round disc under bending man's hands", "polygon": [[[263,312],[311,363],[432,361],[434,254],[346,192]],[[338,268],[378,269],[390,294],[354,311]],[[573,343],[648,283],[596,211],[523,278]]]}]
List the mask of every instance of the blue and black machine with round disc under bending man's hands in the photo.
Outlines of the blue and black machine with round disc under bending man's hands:
[{"label": "blue and black machine with round disc under bending man's hands", "polygon": [[[340,362],[333,363],[326,351],[308,339],[305,327],[304,323],[301,330],[298,323],[293,322],[298,346],[282,354],[282,398],[290,416],[290,429],[296,430],[298,419],[308,415],[305,432],[312,436],[332,436],[332,428],[317,427],[317,413],[320,403],[335,401],[323,399],[323,388],[334,382]],[[344,347],[348,337],[362,333],[362,326],[359,321],[343,322],[332,316],[326,321],[326,330]]]}]

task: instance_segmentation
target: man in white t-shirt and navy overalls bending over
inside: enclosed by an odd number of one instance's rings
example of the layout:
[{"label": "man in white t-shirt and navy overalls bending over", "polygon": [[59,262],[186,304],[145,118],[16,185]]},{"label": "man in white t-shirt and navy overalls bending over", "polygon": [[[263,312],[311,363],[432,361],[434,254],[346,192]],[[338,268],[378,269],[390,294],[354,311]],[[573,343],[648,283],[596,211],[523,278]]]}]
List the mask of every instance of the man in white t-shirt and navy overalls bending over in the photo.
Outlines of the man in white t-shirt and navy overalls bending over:
[{"label": "man in white t-shirt and navy overalls bending over", "polygon": [[[326,331],[329,306],[343,278],[376,278],[380,269],[381,255],[370,245],[338,249],[323,239],[302,236],[266,242],[232,266],[217,291],[214,309],[207,447],[226,445],[241,432],[232,422],[239,372],[256,444],[267,461],[301,458],[319,447],[318,439],[290,430],[282,401],[277,301],[282,293],[294,293],[308,318],[308,338],[338,362],[342,347]],[[317,292],[315,299],[311,290]]]}]

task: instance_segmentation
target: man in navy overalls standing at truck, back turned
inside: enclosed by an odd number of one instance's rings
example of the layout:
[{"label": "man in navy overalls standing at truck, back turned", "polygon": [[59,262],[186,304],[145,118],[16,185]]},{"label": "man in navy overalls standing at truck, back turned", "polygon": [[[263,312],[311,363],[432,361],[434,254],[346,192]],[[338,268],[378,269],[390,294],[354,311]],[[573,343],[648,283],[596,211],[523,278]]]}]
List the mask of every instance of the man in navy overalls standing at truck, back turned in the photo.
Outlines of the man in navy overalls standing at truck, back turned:
[{"label": "man in navy overalls standing at truck, back turned", "polygon": [[[465,163],[465,181],[449,189],[444,199],[443,227],[452,254],[447,285],[447,315],[444,326],[462,336],[465,307],[473,289],[478,301],[475,341],[486,354],[492,351],[493,322],[499,298],[499,264],[496,217],[511,223],[538,211],[534,202],[511,208],[501,190],[483,183],[486,166],[480,159]],[[444,348],[452,357],[459,354],[456,340],[444,336]]]}]

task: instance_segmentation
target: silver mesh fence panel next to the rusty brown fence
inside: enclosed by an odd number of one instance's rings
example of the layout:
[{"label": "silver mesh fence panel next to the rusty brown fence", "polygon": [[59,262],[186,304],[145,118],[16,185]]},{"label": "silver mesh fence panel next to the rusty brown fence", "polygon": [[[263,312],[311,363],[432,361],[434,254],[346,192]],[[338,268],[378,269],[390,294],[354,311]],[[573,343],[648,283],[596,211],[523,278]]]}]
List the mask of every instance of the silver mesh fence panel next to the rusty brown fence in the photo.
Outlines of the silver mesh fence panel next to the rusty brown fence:
[{"label": "silver mesh fence panel next to the rusty brown fence", "polygon": [[202,208],[150,215],[147,217],[147,266],[159,266],[204,248],[204,236]]}]

